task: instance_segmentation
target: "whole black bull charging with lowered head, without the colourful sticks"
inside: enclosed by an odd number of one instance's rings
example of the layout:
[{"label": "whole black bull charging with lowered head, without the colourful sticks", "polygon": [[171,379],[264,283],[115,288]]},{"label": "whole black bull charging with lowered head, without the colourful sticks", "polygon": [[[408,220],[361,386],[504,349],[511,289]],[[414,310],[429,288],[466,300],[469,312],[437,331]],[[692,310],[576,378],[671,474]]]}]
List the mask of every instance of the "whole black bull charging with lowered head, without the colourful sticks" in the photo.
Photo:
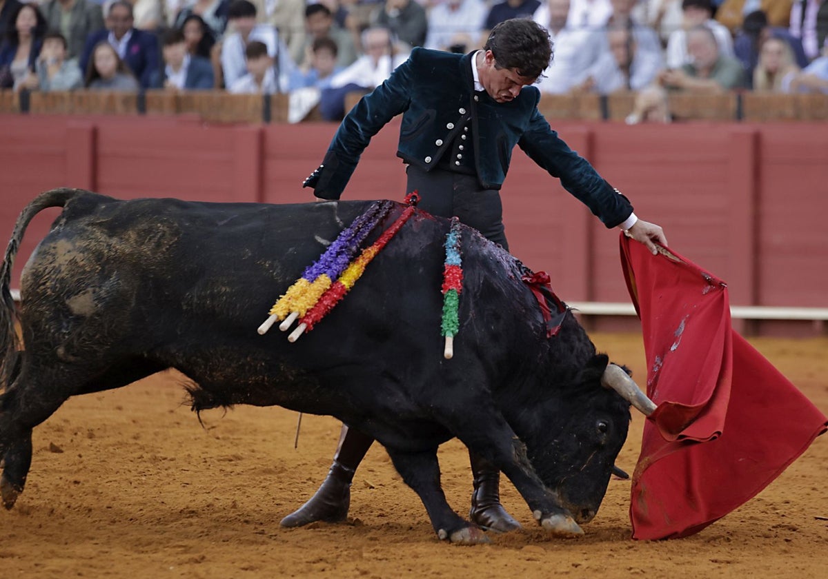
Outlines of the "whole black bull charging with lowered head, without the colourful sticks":
[{"label": "whole black bull charging with lowered head, without the colourful sticks", "polygon": [[[602,387],[607,357],[570,313],[546,337],[519,264],[477,232],[462,231],[451,360],[440,337],[449,223],[419,212],[312,332],[295,343],[277,328],[258,335],[274,299],[370,203],[121,201],[75,189],[32,201],[0,270],[4,505],[23,490],[31,429],[60,404],[172,367],[195,382],[195,410],[275,404],[370,434],[440,538],[481,538],[440,488],[436,449],[454,437],[497,465],[546,529],[580,534],[575,521],[595,516],[627,436],[629,403]],[[55,206],[63,212],[22,276],[20,350],[12,261],[31,218]]]}]

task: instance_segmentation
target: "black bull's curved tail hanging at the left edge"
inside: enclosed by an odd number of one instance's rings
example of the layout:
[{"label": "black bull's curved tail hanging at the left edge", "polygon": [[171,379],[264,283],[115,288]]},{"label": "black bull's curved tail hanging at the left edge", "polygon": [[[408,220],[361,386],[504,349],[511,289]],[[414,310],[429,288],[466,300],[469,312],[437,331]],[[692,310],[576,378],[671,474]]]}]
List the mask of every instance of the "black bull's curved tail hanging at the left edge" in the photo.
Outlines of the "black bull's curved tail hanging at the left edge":
[{"label": "black bull's curved tail hanging at the left edge", "polygon": [[19,356],[20,338],[17,336],[17,309],[12,299],[9,285],[12,283],[12,266],[23,234],[26,232],[32,218],[43,209],[50,207],[65,207],[66,203],[82,193],[79,189],[51,189],[36,197],[26,205],[17,223],[14,225],[12,238],[6,248],[6,256],[0,266],[0,387],[7,390],[12,382]]}]

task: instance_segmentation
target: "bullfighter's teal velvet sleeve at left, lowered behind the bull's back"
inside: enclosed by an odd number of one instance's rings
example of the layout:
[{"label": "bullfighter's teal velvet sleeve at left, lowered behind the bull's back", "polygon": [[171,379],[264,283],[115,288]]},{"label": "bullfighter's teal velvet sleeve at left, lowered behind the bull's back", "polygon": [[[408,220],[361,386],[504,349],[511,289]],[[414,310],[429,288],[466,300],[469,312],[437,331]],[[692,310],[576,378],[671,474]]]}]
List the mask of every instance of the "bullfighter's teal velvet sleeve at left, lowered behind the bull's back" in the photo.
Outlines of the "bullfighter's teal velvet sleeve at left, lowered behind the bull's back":
[{"label": "bullfighter's teal velvet sleeve at left, lowered behind the bull's back", "polygon": [[339,199],[371,138],[408,108],[417,52],[414,49],[408,60],[345,116],[322,165],[302,184],[313,187],[316,197]]}]

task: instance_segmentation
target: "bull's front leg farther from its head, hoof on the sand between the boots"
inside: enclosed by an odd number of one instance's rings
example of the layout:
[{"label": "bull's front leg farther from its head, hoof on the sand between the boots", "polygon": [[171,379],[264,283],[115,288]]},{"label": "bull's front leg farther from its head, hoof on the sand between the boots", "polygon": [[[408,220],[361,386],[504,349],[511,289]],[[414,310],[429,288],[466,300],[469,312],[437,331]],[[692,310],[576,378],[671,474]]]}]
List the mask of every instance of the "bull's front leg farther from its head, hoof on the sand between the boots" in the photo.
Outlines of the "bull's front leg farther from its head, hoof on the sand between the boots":
[{"label": "bull's front leg farther from its head, hoof on the sand between the boots", "polygon": [[440,486],[440,464],[436,449],[426,452],[400,452],[388,448],[388,455],[402,480],[420,495],[431,525],[440,539],[452,543],[489,543],[483,529],[469,523],[451,510]]}]

